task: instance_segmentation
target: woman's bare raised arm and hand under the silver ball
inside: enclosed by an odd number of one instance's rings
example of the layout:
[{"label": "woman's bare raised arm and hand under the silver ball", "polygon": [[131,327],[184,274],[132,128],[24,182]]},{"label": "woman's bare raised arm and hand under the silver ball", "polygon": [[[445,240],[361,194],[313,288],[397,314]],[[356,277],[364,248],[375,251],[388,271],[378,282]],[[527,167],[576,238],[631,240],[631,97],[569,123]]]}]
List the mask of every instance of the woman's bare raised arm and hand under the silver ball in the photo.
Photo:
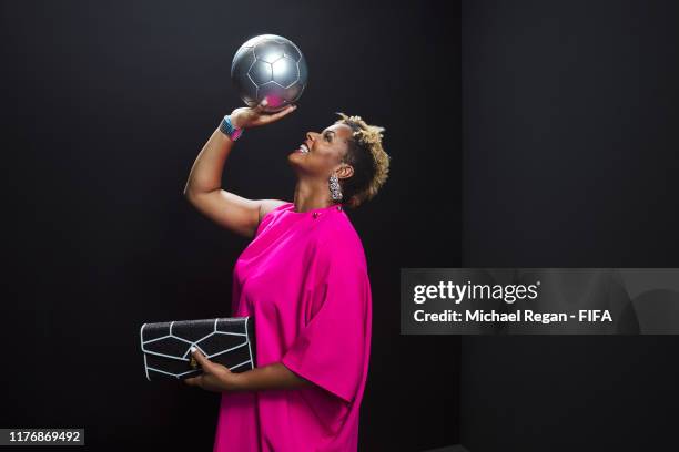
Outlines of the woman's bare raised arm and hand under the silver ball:
[{"label": "woman's bare raised arm and hand under the silver ball", "polygon": [[[230,115],[232,124],[243,129],[255,127],[277,121],[296,109],[296,105],[291,105],[270,114],[264,112],[265,105],[263,102],[254,109],[234,110]],[[200,213],[220,226],[252,237],[266,212],[284,202],[247,199],[222,188],[224,164],[233,145],[234,142],[219,127],[212,132],[189,173],[184,196]]]}]

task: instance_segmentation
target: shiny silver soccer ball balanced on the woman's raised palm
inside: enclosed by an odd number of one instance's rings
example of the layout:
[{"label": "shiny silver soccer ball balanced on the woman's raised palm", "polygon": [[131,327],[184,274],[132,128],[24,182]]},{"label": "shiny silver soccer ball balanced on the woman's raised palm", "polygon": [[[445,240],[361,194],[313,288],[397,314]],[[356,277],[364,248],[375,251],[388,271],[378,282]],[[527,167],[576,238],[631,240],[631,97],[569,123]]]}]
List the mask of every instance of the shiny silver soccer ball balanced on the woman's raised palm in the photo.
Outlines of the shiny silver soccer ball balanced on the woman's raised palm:
[{"label": "shiny silver soccer ball balanced on the woman's raised palm", "polygon": [[255,106],[266,99],[267,112],[296,102],[307,79],[306,60],[300,48],[276,34],[247,40],[231,63],[231,80],[243,102]]}]

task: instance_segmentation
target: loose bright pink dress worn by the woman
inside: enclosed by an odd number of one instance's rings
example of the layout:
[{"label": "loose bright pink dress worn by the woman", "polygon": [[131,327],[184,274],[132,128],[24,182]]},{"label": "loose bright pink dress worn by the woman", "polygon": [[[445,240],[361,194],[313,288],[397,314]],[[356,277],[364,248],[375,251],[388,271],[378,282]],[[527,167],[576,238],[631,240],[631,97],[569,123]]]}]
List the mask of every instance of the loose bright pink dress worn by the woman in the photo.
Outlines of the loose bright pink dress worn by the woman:
[{"label": "loose bright pink dress worn by the woman", "polygon": [[232,312],[253,316],[256,367],[283,362],[307,388],[222,392],[214,452],[357,450],[372,296],[344,207],[262,218],[234,266]]}]

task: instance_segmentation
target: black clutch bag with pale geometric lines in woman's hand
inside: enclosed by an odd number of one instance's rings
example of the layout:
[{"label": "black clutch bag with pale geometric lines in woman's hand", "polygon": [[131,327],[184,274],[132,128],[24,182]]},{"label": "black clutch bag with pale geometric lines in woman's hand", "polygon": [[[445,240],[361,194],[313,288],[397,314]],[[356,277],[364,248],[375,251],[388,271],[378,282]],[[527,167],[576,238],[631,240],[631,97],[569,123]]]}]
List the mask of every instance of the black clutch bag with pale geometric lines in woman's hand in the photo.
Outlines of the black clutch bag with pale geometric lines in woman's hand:
[{"label": "black clutch bag with pale geometric lines in woman's hand", "polygon": [[191,356],[191,347],[232,372],[254,369],[256,362],[251,316],[144,323],[139,336],[149,381],[183,380],[203,373]]}]

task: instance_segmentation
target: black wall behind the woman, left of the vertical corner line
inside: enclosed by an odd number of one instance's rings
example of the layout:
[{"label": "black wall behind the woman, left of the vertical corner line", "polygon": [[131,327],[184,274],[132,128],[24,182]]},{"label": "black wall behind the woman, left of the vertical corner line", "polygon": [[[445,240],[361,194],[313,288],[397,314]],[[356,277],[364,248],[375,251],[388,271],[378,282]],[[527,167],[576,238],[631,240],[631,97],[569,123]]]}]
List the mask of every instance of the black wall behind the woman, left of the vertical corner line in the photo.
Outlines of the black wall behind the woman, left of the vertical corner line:
[{"label": "black wall behind the woman, left of the vertical corner line", "polygon": [[459,338],[399,336],[398,278],[460,263],[459,8],[69,0],[0,11],[1,427],[85,428],[92,450],[212,450],[219,394],[148,382],[139,328],[231,314],[247,240],[182,189],[222,116],[243,105],[233,54],[274,33],[302,49],[310,83],[293,115],[239,141],[223,187],[291,201],[286,156],[307,131],[336,111],[386,127],[391,179],[349,212],[374,297],[362,450],[458,441]]}]

